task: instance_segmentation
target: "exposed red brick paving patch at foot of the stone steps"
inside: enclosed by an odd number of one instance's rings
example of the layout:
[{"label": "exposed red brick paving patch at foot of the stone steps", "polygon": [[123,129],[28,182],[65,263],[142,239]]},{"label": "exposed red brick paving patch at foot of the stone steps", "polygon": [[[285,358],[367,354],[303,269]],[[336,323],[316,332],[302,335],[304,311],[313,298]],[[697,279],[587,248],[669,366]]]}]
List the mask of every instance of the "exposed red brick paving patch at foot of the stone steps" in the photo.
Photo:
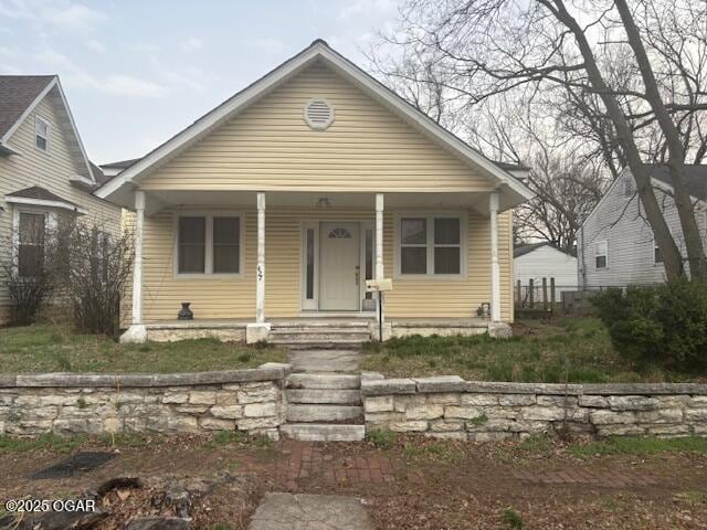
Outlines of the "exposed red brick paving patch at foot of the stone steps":
[{"label": "exposed red brick paving patch at foot of the stone steps", "polygon": [[392,483],[395,480],[393,464],[381,455],[348,456],[335,459],[324,453],[323,446],[286,441],[283,453],[286,458],[278,464],[278,473],[287,480],[318,478],[336,484]]}]

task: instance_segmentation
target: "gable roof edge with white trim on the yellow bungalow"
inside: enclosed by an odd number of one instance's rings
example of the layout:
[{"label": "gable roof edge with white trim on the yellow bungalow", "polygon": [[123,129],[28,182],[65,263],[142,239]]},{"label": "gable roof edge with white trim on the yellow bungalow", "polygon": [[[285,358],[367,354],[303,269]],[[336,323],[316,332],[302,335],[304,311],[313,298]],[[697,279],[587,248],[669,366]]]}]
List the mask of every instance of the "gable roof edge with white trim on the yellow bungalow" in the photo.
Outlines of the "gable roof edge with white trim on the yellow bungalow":
[{"label": "gable roof edge with white trim on the yellow bungalow", "polygon": [[[390,110],[398,114],[409,125],[421,130],[433,140],[436,140],[465,162],[481,169],[486,176],[495,179],[499,186],[505,184],[514,193],[515,203],[534,197],[532,192],[509,172],[511,170],[509,165],[506,166],[506,169],[484,157],[481,152],[473,149],[440,124],[413,107],[390,88],[329,47],[329,45],[320,39],[314,41],[297,55],[285,61],[275,70],[246,86],[151,152],[124,169],[118,176],[96,190],[96,195],[107,199],[112,195],[119,194],[120,191],[128,191],[129,184],[139,182],[140,179],[145,178],[157,167],[173,158],[316,61],[324,62],[325,65],[330,67],[335,73],[341,75],[369,96],[372,96]],[[513,170],[523,171],[524,169],[525,168],[517,166],[513,167]]]}]

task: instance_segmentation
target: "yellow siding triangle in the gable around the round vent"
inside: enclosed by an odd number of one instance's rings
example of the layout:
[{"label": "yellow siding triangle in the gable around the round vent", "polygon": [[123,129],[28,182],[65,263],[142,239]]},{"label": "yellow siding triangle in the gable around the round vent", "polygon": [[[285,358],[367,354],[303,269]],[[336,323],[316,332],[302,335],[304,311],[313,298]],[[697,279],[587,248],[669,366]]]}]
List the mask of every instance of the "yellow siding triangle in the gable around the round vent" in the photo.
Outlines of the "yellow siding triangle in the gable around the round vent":
[{"label": "yellow siding triangle in the gable around the round vent", "polygon": [[[313,130],[324,96],[336,119]],[[177,156],[146,190],[488,191],[490,181],[323,65],[314,65]]]}]

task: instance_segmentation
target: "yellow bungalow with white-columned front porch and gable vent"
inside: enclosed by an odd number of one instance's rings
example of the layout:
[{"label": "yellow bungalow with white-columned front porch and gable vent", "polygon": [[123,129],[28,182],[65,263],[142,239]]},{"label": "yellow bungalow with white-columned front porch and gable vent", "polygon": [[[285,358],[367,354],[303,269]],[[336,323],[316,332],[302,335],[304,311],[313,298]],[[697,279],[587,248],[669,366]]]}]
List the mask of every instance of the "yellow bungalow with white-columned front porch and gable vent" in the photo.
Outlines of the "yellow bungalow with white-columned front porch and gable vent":
[{"label": "yellow bungalow with white-columned front porch and gable vent", "polygon": [[524,171],[317,40],[97,191],[135,212],[123,340],[376,336],[383,278],[386,337],[507,330]]}]

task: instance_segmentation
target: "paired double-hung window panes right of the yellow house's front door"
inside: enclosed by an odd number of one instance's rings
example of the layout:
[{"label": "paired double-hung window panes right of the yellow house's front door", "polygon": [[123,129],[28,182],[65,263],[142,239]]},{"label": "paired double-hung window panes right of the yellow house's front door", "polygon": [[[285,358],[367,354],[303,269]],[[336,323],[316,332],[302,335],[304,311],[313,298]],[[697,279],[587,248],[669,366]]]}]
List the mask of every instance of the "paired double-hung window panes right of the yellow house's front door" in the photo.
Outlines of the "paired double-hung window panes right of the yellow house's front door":
[{"label": "paired double-hung window panes right of the yellow house's front door", "polygon": [[452,278],[465,274],[464,215],[401,215],[398,231],[399,275]]}]

